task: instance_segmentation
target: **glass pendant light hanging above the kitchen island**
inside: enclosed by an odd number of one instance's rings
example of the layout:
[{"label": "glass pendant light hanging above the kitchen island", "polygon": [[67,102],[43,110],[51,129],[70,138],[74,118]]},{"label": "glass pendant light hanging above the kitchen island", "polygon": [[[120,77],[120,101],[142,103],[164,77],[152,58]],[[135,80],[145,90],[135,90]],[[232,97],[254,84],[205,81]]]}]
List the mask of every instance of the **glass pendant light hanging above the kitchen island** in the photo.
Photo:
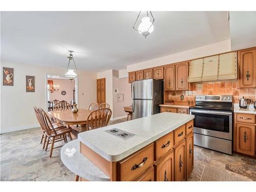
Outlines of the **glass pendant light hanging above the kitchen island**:
[{"label": "glass pendant light hanging above the kitchen island", "polygon": [[[141,11],[139,12],[139,15],[133,25],[133,28],[134,30],[138,31],[140,34],[142,34],[146,38],[149,34],[151,34],[154,31],[153,23],[155,22],[155,18],[153,17],[153,14],[151,11],[146,11],[146,15],[141,18],[141,23],[139,24],[138,29],[136,29],[135,25],[140,15],[141,15]],[[152,22],[151,22],[151,19],[152,19]]]}]

